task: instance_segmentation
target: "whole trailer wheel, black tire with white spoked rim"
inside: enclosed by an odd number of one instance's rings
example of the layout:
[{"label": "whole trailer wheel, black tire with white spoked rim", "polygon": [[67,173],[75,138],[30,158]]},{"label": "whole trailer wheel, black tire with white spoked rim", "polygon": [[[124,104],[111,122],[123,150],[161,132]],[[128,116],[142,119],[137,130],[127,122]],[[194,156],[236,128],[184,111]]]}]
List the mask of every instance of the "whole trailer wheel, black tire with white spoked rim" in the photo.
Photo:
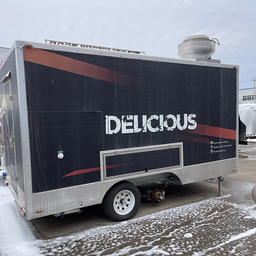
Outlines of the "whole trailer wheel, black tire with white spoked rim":
[{"label": "whole trailer wheel, black tire with white spoked rim", "polygon": [[110,220],[131,219],[140,208],[140,191],[130,182],[118,183],[109,189],[102,207]]}]

